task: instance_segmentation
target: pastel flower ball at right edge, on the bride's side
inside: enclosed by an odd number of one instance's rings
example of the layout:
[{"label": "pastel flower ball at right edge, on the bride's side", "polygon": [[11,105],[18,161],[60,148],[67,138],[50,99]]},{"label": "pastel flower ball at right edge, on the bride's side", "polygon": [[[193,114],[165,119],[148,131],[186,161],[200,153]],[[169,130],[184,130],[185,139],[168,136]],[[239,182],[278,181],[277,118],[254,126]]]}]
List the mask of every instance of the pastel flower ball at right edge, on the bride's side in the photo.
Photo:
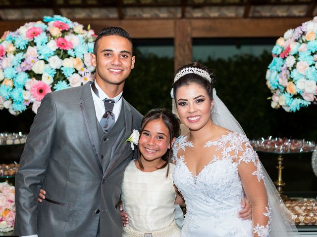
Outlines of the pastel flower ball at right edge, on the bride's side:
[{"label": "pastel flower ball at right edge, on the bride's side", "polygon": [[317,102],[317,17],[285,32],[272,49],[266,85],[271,107],[296,112]]}]

